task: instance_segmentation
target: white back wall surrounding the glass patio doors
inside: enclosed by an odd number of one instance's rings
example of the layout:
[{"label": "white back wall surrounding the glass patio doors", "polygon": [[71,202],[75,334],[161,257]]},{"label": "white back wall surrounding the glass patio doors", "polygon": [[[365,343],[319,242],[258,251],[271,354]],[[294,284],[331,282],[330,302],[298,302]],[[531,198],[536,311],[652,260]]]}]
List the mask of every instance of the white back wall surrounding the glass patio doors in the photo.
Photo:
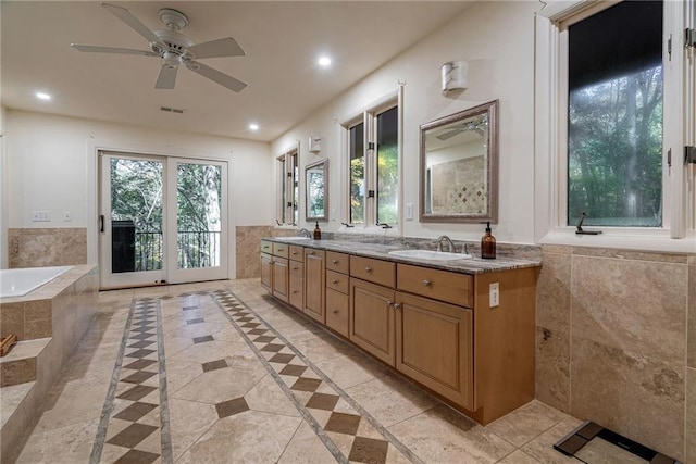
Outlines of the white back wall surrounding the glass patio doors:
[{"label": "white back wall surrounding the glass patio doors", "polygon": [[[97,262],[97,148],[227,160],[231,244],[234,226],[268,225],[272,216],[273,165],[265,142],[13,110],[4,127],[8,227],[87,227],[90,263]],[[51,221],[32,222],[33,210],[50,211]],[[71,222],[63,222],[64,211]]]}]

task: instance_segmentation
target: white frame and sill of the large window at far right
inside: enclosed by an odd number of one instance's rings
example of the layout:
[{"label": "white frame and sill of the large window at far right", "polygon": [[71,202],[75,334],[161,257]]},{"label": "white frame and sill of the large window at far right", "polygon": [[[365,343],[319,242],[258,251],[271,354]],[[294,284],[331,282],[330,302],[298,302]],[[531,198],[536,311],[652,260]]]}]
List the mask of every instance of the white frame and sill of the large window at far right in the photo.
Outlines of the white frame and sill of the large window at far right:
[{"label": "white frame and sill of the large window at far right", "polygon": [[[694,0],[687,3],[693,4]],[[568,26],[617,1],[549,2],[535,17],[535,240],[548,244],[616,247],[670,251],[696,251],[693,239],[695,200],[686,192],[689,177],[682,162],[688,145],[685,127],[694,124],[693,108],[684,102],[693,88],[693,60],[683,50],[686,9],[681,2],[664,1],[663,24],[663,170],[662,227],[596,227],[599,236],[577,236],[575,226],[566,225],[568,211]],[[692,7],[693,8],[693,7]],[[544,11],[547,10],[547,11]],[[672,53],[668,40],[672,37]],[[693,50],[692,50],[693,53]],[[671,60],[670,60],[671,58]],[[687,74],[691,67],[691,76]],[[671,166],[668,152],[671,150]],[[693,175],[691,175],[693,179]],[[693,186],[693,181],[691,183]],[[693,187],[692,187],[693,190]],[[691,211],[689,211],[691,210]],[[687,230],[687,224],[689,225]],[[670,240],[688,238],[689,240]]]}]

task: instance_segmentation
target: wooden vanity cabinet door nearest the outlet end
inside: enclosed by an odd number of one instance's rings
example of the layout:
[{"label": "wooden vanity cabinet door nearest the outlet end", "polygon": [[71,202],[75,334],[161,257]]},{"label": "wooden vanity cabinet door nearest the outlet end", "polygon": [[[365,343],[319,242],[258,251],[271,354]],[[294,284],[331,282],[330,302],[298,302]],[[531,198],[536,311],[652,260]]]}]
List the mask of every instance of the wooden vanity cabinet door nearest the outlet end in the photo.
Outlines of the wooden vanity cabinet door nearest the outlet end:
[{"label": "wooden vanity cabinet door nearest the outlet end", "polygon": [[473,409],[472,310],[401,292],[396,303],[396,368]]}]

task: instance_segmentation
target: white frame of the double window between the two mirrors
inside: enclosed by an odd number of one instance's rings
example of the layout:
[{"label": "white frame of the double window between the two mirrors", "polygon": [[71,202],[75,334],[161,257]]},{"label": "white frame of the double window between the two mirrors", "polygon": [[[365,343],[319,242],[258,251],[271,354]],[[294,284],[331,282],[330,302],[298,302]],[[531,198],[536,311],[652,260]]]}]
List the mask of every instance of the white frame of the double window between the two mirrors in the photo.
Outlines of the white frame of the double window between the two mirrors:
[{"label": "white frame of the double window between the two mirrors", "polygon": [[[373,142],[376,147],[376,126],[377,116],[393,108],[397,108],[397,222],[388,223],[387,234],[400,234],[403,227],[403,87],[400,85],[396,91],[389,92],[382,98],[365,105],[361,111],[352,113],[352,116],[341,118],[340,130],[343,140],[343,163],[341,163],[341,181],[344,183],[343,192],[345,200],[344,223],[349,224],[350,228],[346,231],[352,233],[385,233],[383,226],[377,225],[377,150],[370,149],[369,143]],[[350,223],[350,129],[359,124],[363,124],[363,150],[365,159],[364,185],[365,185],[365,202],[364,202],[364,222]],[[374,197],[368,197],[369,190],[375,190]]]}]

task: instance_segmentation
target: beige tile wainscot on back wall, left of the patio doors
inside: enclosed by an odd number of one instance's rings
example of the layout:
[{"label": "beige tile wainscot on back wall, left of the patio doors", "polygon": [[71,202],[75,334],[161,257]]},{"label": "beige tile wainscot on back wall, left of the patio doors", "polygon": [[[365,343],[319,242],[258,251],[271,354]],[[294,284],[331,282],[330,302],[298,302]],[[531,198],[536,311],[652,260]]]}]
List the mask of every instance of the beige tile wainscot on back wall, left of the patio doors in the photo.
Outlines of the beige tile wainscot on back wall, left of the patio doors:
[{"label": "beige tile wainscot on back wall, left of the patio doors", "polygon": [[9,267],[87,264],[86,228],[10,228]]}]

